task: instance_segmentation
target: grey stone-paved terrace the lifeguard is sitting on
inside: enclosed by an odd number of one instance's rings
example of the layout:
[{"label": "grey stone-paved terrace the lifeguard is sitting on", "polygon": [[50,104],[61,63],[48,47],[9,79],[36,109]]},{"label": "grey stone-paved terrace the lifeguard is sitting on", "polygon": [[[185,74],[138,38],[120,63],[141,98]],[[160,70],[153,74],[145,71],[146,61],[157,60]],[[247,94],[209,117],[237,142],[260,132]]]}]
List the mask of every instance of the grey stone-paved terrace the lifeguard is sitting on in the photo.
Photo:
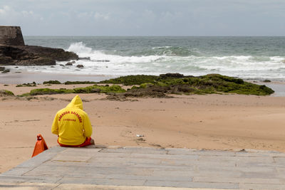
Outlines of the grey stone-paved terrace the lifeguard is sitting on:
[{"label": "grey stone-paved terrace the lifeguard is sitting on", "polygon": [[[123,188],[125,187],[125,188]],[[0,189],[285,189],[284,153],[52,147],[0,174]]]}]

